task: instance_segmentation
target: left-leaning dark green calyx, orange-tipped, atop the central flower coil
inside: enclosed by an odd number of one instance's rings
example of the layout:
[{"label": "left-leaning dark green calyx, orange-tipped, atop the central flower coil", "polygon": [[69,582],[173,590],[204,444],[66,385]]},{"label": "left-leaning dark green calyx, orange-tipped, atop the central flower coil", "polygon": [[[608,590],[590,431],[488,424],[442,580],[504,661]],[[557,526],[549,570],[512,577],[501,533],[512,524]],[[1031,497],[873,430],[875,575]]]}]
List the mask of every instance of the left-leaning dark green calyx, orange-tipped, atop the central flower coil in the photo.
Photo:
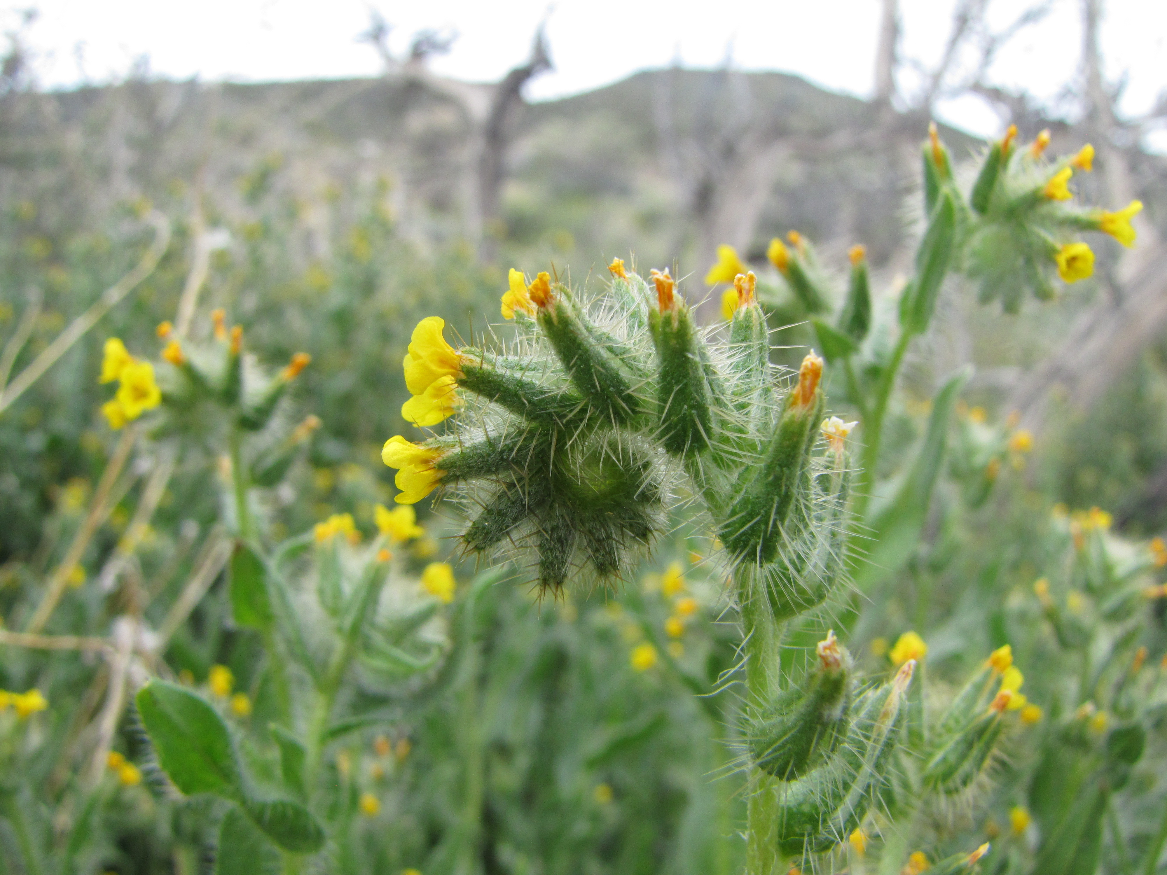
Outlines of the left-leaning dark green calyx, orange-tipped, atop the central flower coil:
[{"label": "left-leaning dark green calyx, orange-tipped, atop the central flower coil", "polygon": [[584,316],[562,293],[548,307],[540,308],[538,322],[572,383],[605,419],[623,425],[641,412],[628,368],[595,338]]}]

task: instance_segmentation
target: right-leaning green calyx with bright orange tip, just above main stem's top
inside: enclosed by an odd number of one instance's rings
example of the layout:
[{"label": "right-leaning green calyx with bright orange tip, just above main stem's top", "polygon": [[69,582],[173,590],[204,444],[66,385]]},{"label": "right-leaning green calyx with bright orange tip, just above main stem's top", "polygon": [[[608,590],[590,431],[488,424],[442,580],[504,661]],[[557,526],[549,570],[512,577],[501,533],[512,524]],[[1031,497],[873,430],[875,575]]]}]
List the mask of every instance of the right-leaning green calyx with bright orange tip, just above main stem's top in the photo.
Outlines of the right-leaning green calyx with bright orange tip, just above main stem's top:
[{"label": "right-leaning green calyx with bright orange tip, just above main stem's top", "polygon": [[721,540],[735,556],[757,564],[774,560],[783,527],[804,488],[803,470],[823,415],[823,393],[808,407],[794,407],[794,392],[760,464],[742,473],[739,496],[721,525]]}]

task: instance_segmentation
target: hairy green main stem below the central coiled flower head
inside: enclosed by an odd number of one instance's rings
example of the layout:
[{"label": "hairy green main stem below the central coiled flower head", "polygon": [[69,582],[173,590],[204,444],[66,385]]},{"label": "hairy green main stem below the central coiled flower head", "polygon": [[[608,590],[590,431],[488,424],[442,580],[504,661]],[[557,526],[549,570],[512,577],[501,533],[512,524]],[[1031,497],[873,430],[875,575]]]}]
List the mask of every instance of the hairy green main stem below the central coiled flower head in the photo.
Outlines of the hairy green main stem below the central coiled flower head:
[{"label": "hairy green main stem below the central coiled flower head", "polygon": [[[742,632],[746,636],[747,707],[769,701],[778,691],[782,677],[778,642],[781,625],[767,611],[763,593],[749,593],[747,581],[738,581]],[[783,860],[778,853],[778,788],[780,782],[761,769],[749,770],[746,826],[747,875],[783,875]]]}]

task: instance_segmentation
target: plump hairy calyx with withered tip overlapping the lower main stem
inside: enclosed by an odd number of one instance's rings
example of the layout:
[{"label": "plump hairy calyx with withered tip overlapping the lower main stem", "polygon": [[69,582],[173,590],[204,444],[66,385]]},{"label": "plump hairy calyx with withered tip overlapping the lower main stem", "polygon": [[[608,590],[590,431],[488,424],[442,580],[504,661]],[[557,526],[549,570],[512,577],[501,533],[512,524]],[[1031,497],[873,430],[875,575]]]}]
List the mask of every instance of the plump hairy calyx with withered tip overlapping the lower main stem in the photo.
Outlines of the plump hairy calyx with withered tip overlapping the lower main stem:
[{"label": "plump hairy calyx with withered tip overlapping the lower main stem", "polygon": [[804,688],[781,693],[747,727],[754,765],[768,775],[799,778],[834,752],[846,736],[851,657],[836,648],[836,662],[823,660]]}]

